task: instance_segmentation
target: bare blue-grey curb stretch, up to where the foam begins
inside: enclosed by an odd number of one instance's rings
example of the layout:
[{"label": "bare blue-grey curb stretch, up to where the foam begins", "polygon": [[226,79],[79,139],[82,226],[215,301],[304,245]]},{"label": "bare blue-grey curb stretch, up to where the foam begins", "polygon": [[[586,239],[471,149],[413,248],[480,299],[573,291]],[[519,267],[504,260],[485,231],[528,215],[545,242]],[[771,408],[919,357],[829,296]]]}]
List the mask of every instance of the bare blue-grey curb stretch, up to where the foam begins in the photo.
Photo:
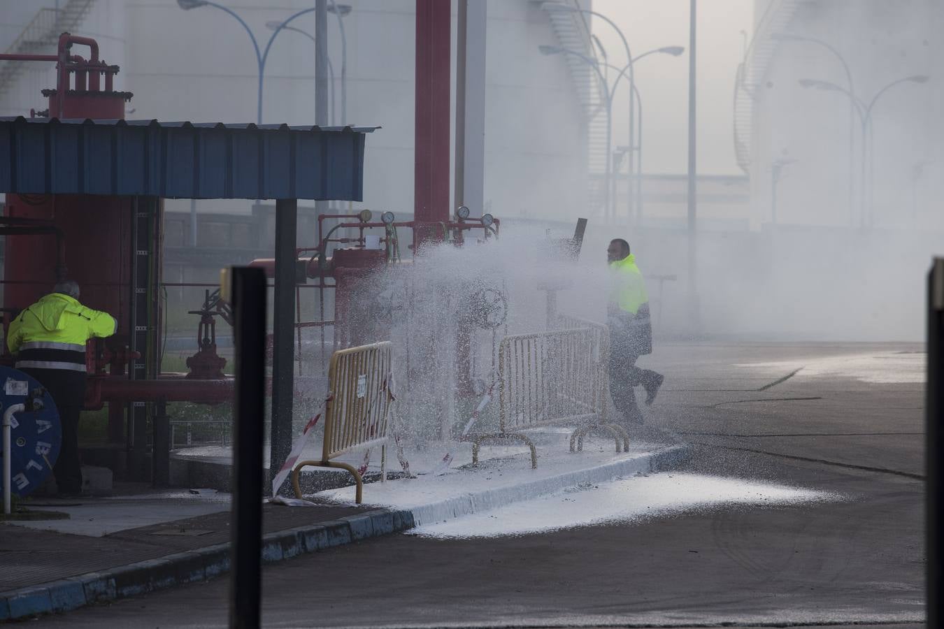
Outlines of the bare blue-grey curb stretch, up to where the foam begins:
[{"label": "bare blue-grey curb stretch, up to where the foam begins", "polygon": [[[262,537],[262,563],[413,528],[413,512],[379,509],[298,526]],[[206,581],[229,570],[229,543],[86,572],[38,586],[0,592],[0,621],[65,612],[159,589]]]}]

